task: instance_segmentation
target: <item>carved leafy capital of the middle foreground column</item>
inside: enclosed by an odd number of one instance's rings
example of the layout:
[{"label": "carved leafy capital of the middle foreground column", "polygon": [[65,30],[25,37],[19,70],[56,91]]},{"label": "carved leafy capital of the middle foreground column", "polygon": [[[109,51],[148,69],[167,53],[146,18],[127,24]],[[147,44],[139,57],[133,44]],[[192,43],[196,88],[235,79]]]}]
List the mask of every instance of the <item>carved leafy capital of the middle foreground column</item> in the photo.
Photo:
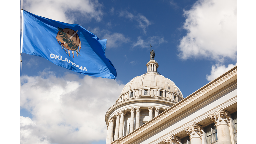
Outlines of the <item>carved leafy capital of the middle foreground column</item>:
[{"label": "carved leafy capital of the middle foreground column", "polygon": [[194,122],[192,125],[189,125],[188,127],[184,128],[184,130],[189,135],[190,139],[195,137],[202,139],[202,135],[203,135],[202,125]]}]

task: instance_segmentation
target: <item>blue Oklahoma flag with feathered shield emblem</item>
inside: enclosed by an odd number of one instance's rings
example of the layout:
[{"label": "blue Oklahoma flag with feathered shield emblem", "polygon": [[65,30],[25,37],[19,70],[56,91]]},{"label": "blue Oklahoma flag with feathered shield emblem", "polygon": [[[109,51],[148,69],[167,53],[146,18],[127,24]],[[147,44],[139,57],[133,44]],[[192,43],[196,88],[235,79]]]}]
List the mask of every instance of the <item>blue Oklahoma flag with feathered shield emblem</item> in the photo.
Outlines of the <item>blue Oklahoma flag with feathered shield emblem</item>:
[{"label": "blue Oklahoma flag with feathered shield emblem", "polygon": [[68,24],[22,10],[23,53],[43,57],[74,72],[116,78],[116,69],[105,56],[107,40],[100,40],[78,24]]}]

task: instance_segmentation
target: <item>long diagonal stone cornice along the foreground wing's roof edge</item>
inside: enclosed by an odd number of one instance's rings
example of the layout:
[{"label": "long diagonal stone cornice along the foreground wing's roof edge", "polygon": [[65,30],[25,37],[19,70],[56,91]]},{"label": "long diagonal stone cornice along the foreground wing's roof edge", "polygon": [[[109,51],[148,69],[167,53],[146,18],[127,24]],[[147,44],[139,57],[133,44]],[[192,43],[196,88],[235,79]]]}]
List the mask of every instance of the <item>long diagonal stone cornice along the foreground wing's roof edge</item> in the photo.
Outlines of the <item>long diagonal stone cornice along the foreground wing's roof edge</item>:
[{"label": "long diagonal stone cornice along the foreground wing's roof edge", "polygon": [[[141,138],[145,134],[145,130],[150,128],[151,130],[159,127],[161,124],[165,123],[170,119],[171,116],[178,115],[184,112],[187,108],[197,104],[199,101],[205,99],[208,96],[216,94],[220,89],[228,90],[228,85],[235,83],[237,79],[237,67],[232,68],[228,72],[224,73],[220,77],[216,78],[212,82],[209,82],[202,88],[198,89],[188,97],[184,98],[177,104],[173,105],[171,108],[159,114],[157,117],[153,118],[146,124],[142,125],[138,129],[134,130],[130,134],[126,135],[124,138],[120,139],[121,143],[131,143]],[[232,86],[231,86],[232,87]],[[132,138],[132,139],[131,139]],[[113,142],[114,143],[114,142]]]}]

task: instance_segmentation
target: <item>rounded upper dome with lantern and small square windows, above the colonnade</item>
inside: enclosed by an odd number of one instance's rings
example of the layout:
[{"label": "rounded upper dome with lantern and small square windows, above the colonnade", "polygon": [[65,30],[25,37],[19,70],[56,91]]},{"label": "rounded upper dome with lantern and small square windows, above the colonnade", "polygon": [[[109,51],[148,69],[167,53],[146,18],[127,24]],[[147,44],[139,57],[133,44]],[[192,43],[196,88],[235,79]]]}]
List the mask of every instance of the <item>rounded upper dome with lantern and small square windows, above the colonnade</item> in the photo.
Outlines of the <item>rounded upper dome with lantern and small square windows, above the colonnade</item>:
[{"label": "rounded upper dome with lantern and small square windows, above the colonnade", "polygon": [[148,61],[148,71],[128,82],[124,86],[116,102],[119,102],[123,99],[133,98],[134,96],[140,97],[147,95],[165,98],[171,98],[171,95],[173,95],[173,99],[175,99],[175,96],[177,96],[177,101],[183,99],[181,91],[174,84],[174,82],[157,72],[158,66],[158,63],[155,60]]}]

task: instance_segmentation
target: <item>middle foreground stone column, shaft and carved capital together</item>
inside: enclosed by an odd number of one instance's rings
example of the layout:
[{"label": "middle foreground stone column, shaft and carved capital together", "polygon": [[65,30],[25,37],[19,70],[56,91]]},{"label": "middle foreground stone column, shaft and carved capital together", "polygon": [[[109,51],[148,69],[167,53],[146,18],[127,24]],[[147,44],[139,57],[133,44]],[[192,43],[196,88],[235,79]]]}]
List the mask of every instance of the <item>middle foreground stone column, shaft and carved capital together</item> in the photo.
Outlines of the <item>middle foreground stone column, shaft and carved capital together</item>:
[{"label": "middle foreground stone column, shaft and carved capital together", "polygon": [[187,128],[184,128],[185,132],[189,135],[191,144],[202,144],[202,125],[194,122],[192,125],[189,125]]}]

